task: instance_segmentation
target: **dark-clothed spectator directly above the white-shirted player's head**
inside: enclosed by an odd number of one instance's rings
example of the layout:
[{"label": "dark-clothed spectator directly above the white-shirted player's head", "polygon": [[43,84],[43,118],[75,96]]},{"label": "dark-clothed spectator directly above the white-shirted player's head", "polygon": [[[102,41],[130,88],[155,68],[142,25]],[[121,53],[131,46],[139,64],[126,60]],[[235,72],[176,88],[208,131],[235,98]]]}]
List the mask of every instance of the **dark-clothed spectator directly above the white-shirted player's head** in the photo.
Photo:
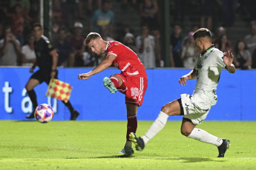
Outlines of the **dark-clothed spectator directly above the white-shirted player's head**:
[{"label": "dark-clothed spectator directly above the white-shirted player's head", "polygon": [[210,30],[212,24],[212,17],[214,16],[214,1],[200,0],[200,13],[201,27],[206,27]]}]

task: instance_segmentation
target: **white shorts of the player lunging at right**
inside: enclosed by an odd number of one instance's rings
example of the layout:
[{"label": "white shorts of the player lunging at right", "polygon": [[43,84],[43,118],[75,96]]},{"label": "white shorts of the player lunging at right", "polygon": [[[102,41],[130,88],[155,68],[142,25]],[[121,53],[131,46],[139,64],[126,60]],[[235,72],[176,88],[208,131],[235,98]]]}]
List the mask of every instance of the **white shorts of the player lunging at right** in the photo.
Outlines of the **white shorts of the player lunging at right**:
[{"label": "white shorts of the player lunging at right", "polygon": [[202,109],[197,105],[197,96],[182,94],[181,96],[181,103],[183,105],[184,116],[183,118],[188,118],[191,120],[193,124],[200,124],[203,120],[206,119],[206,116],[211,109]]}]

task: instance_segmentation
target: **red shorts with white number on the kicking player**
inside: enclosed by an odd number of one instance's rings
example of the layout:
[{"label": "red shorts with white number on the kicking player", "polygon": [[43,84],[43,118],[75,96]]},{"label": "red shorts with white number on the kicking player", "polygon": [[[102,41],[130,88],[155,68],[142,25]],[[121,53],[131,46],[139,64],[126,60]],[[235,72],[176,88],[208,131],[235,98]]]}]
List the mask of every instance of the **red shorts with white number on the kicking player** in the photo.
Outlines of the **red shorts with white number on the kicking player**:
[{"label": "red shorts with white number on the kicking player", "polygon": [[119,75],[122,78],[122,85],[117,88],[119,92],[125,94],[125,103],[131,103],[136,106],[141,106],[145,95],[145,90],[148,88],[148,81],[142,77],[129,77]]}]

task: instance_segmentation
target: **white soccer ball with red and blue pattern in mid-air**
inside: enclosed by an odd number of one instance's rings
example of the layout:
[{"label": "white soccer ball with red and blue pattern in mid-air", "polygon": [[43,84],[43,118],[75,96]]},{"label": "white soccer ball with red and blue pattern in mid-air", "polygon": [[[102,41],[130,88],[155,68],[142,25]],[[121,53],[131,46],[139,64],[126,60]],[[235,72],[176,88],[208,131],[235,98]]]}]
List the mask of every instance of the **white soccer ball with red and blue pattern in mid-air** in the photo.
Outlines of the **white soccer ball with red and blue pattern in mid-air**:
[{"label": "white soccer ball with red and blue pattern in mid-air", "polygon": [[53,108],[46,103],[36,107],[35,118],[40,123],[48,123],[53,118]]}]

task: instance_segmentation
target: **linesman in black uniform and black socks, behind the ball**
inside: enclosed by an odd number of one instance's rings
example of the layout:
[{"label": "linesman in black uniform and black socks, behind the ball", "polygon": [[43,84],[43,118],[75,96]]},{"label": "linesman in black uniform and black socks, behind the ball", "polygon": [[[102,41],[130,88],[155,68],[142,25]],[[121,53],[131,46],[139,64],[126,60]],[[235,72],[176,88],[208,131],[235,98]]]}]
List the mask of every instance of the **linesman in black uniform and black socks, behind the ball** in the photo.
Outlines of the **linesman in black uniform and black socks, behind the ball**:
[{"label": "linesman in black uniform and black socks, behind the ball", "polygon": [[[33,30],[36,35],[36,40],[34,42],[36,63],[33,65],[33,67],[31,67],[30,72],[33,72],[33,69],[36,66],[39,67],[39,70],[31,75],[29,81],[25,86],[25,88],[27,89],[27,94],[29,95],[31,102],[33,103],[33,113],[31,115],[28,115],[26,118],[35,118],[34,110],[36,109],[36,106],[38,106],[36,92],[33,88],[39,84],[42,84],[42,82],[49,84],[51,78],[58,78],[58,70],[56,69],[58,55],[56,54],[56,51],[53,49],[53,46],[52,44],[50,44],[48,38],[42,35],[43,30],[40,24],[34,24]],[[64,103],[65,106],[67,106],[70,110],[70,120],[76,120],[76,118],[79,116],[79,112],[73,109],[70,101],[68,101],[67,103],[62,101],[62,103]]]}]

